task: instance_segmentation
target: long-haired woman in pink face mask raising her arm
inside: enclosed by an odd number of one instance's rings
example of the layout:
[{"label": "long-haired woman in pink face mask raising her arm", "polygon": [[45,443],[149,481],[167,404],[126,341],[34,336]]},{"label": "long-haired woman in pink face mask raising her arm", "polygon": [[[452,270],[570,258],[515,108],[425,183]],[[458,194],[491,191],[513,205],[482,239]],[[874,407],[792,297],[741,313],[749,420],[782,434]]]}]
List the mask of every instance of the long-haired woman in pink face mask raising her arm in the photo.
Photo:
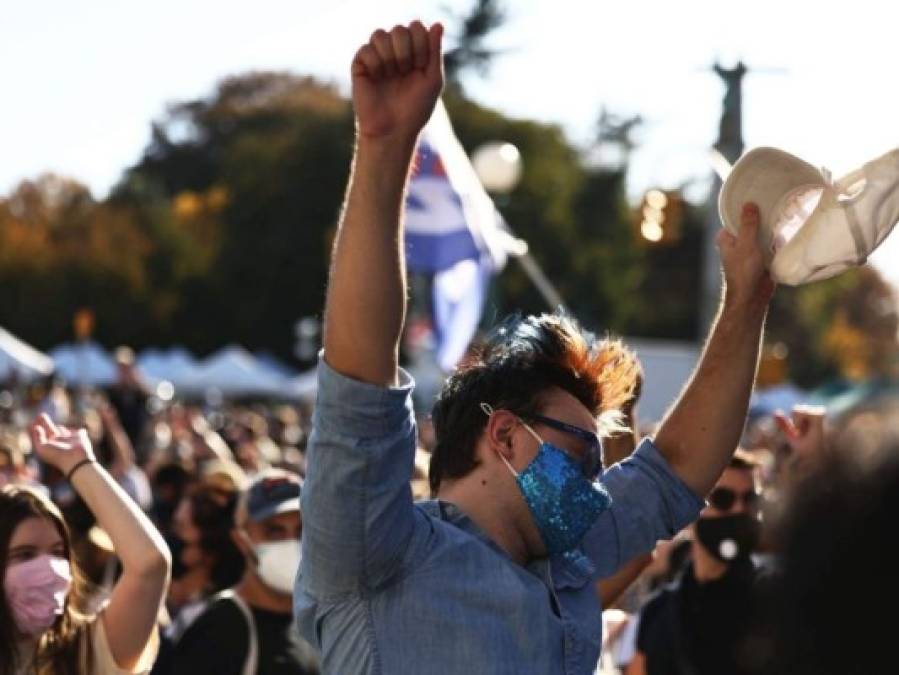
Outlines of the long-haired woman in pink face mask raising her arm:
[{"label": "long-haired woman in pink face mask raising her arm", "polygon": [[152,523],[97,463],[87,433],[41,415],[35,453],[59,469],[106,530],[122,574],[97,614],[59,509],[27,487],[0,490],[0,675],[148,673],[171,561]]}]

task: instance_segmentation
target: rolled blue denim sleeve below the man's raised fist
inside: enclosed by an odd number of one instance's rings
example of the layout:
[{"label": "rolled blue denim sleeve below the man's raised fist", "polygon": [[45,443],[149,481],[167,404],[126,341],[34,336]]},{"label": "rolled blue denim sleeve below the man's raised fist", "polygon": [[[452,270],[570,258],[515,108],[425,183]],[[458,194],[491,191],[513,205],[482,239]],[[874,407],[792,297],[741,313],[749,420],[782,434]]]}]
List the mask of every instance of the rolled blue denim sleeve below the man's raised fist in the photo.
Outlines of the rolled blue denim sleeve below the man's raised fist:
[{"label": "rolled blue denim sleeve below the man's raised fist", "polygon": [[388,582],[414,529],[412,378],[380,387],[341,375],[324,358],[302,492],[298,589],[320,600]]}]

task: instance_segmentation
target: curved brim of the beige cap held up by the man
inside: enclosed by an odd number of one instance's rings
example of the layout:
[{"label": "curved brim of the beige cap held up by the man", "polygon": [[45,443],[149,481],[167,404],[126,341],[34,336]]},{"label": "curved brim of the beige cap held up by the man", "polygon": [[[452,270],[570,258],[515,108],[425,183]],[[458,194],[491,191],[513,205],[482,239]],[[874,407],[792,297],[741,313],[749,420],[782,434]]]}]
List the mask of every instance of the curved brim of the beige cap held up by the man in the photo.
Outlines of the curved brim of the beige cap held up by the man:
[{"label": "curved brim of the beige cap held up by the man", "polygon": [[821,172],[808,162],[777,148],[750,150],[731,169],[718,195],[721,222],[738,234],[743,204],[757,204],[761,222],[759,244],[770,264],[774,257],[773,211],[786,194],[805,186],[824,187]]}]

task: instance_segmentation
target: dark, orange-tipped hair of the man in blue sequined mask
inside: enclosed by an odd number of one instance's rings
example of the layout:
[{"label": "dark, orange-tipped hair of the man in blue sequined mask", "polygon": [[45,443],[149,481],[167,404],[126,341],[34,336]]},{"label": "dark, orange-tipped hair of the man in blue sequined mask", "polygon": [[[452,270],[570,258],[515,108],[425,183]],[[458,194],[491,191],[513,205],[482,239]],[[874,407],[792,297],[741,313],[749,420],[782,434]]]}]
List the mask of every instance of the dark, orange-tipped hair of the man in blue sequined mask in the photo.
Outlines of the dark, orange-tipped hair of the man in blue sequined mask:
[{"label": "dark, orange-tipped hair of the man in blue sequined mask", "polygon": [[612,431],[640,375],[620,341],[598,340],[566,314],[507,319],[449,377],[434,404],[431,490],[477,466],[475,446],[487,423],[482,402],[529,419],[558,387],[597,416],[601,430]]}]

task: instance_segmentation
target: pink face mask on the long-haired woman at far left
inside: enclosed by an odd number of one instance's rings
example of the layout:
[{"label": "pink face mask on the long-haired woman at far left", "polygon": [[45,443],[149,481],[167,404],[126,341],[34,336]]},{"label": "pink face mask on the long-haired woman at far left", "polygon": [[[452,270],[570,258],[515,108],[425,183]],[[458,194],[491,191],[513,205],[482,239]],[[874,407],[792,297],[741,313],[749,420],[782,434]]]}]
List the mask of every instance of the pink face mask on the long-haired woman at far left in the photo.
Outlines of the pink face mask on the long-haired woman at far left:
[{"label": "pink face mask on the long-haired woman at far left", "polygon": [[69,561],[58,556],[7,567],[3,588],[19,632],[36,636],[50,628],[63,612],[71,585]]}]

